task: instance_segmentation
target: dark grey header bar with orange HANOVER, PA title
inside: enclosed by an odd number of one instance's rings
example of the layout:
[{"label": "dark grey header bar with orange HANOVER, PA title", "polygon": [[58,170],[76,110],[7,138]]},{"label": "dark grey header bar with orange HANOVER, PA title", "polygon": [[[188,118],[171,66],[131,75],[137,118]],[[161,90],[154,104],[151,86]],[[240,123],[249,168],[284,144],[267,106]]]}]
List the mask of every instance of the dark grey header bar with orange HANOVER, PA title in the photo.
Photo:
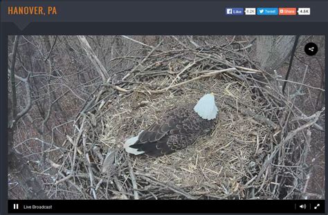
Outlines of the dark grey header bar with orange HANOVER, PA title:
[{"label": "dark grey header bar with orange HANOVER, PA title", "polygon": [[[311,8],[311,15],[228,16],[226,8]],[[328,21],[327,1],[2,2],[2,21]]]}]

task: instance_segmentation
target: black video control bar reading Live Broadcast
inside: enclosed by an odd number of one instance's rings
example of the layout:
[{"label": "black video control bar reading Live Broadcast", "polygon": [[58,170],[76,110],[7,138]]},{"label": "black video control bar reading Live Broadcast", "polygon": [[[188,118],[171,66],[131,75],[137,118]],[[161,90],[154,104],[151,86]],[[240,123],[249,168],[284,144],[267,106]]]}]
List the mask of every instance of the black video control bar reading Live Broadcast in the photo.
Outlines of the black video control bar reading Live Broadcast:
[{"label": "black video control bar reading Live Broadcast", "polygon": [[9,213],[325,213],[325,200],[8,200]]}]

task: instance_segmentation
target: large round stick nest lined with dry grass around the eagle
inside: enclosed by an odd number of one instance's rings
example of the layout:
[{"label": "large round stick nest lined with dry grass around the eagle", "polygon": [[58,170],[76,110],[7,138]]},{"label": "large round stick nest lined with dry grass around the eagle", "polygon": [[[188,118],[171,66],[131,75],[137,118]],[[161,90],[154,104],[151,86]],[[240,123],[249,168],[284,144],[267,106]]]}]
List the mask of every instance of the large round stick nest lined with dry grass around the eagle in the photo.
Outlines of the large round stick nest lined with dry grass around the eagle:
[{"label": "large round stick nest lined with dry grass around the eagle", "polygon": [[[164,52],[157,46],[86,103],[75,134],[67,136],[62,165],[52,164],[61,173],[55,185],[75,187],[74,198],[302,198],[307,131],[322,129],[316,124],[322,111],[305,118],[275,77],[254,65],[228,48]],[[219,107],[211,135],[160,158],[122,149],[167,109],[210,92]]]}]

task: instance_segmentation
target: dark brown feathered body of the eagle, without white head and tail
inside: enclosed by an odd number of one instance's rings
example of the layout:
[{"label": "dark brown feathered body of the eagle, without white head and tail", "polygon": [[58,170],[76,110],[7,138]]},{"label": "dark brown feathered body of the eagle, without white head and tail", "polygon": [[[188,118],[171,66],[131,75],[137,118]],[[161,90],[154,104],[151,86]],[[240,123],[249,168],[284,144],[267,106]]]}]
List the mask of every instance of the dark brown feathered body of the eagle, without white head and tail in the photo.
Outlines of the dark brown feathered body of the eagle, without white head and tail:
[{"label": "dark brown feathered body of the eagle, without white head and tail", "polygon": [[148,156],[163,156],[183,149],[197,138],[210,133],[217,119],[204,120],[195,111],[196,103],[185,104],[167,111],[159,122],[138,135],[131,148]]}]

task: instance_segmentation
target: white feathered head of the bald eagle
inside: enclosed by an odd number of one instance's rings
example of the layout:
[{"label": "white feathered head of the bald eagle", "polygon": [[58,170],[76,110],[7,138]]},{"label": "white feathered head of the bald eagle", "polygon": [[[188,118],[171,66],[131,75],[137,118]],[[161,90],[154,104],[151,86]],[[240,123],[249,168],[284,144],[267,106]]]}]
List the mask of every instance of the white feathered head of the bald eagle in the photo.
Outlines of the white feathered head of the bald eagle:
[{"label": "white feathered head of the bald eagle", "polygon": [[215,105],[214,93],[209,93],[201,97],[194,106],[194,111],[204,120],[213,120],[217,118],[217,106]]}]

